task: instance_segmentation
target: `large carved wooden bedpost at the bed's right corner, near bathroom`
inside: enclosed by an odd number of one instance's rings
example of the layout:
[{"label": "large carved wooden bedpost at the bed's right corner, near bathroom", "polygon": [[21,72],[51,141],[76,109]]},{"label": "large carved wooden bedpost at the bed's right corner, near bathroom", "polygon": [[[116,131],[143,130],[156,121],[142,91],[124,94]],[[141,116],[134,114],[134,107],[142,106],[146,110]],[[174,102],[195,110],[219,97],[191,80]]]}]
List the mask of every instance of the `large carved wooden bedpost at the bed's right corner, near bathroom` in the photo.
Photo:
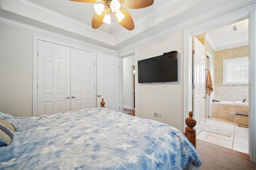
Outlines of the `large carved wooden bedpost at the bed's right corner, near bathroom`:
[{"label": "large carved wooden bedpost at the bed's right corner, near bathroom", "polygon": [[193,119],[193,112],[190,111],[188,113],[189,117],[185,120],[186,125],[188,127],[185,128],[185,135],[187,136],[188,140],[196,147],[196,120]]}]

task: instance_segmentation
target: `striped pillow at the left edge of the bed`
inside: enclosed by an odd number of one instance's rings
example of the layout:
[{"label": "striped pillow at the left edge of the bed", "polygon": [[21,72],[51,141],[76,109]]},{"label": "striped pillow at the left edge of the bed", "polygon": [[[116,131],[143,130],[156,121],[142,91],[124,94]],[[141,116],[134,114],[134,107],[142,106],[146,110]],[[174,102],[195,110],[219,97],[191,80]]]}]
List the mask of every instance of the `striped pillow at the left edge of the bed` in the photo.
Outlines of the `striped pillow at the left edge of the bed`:
[{"label": "striped pillow at the left edge of the bed", "polygon": [[12,142],[15,127],[8,121],[0,118],[0,146],[7,146]]}]

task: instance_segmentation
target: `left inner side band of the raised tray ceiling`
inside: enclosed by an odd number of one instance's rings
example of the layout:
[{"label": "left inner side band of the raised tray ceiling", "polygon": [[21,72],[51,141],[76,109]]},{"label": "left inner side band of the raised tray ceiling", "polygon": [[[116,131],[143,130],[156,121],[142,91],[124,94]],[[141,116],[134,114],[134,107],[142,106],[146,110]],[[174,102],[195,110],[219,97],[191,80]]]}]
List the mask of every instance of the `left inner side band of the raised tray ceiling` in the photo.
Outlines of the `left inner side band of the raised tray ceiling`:
[{"label": "left inner side band of the raised tray ceiling", "polygon": [[28,0],[2,0],[1,8],[92,40],[108,43],[108,45],[114,45],[113,35],[106,34],[100,30],[94,30],[82,22],[78,22],[64,15],[58,14]]}]

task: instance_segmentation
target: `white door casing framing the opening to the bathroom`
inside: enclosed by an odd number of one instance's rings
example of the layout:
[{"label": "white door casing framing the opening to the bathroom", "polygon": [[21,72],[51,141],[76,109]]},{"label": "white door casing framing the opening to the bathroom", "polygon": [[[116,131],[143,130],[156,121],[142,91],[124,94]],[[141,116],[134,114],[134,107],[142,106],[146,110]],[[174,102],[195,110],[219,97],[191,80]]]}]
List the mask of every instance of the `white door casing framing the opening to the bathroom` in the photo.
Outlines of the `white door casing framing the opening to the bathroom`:
[{"label": "white door casing framing the opening to the bathroom", "polygon": [[[255,90],[255,87],[253,86],[252,82],[254,81],[254,77],[252,75],[254,75],[254,65],[255,65],[255,55],[256,55],[256,51],[253,48],[253,44],[255,44],[255,34],[254,34],[254,30],[253,29],[255,27],[255,20],[253,20],[252,18],[255,17],[255,8],[250,8],[250,9],[243,9],[241,14],[241,11],[238,12],[234,12],[232,14],[228,14],[226,16],[222,16],[222,18],[216,18],[215,20],[212,20],[210,22],[206,22],[204,24],[199,24],[198,26],[195,26],[194,28],[190,29],[190,30],[186,30],[184,32],[185,35],[185,40],[184,40],[184,49],[185,49],[185,53],[184,56],[186,57],[185,60],[185,64],[184,64],[184,68],[185,68],[185,109],[184,109],[184,116],[186,115],[186,113],[188,113],[188,111],[191,110],[192,108],[192,103],[191,103],[191,99],[192,99],[192,83],[190,83],[190,79],[191,79],[191,73],[192,73],[192,69],[191,69],[191,63],[192,63],[192,36],[198,35],[202,32],[207,32],[209,31],[210,28],[217,28],[217,27],[222,27],[228,24],[232,24],[234,22],[237,22],[239,20],[245,19],[245,17],[249,16],[249,37],[251,37],[249,39],[249,61],[250,61],[250,72],[252,73],[251,75],[249,75],[250,77],[250,82],[249,82],[249,104],[253,101],[253,99],[255,99],[255,95],[252,93]],[[214,23],[214,24],[213,24]],[[251,107],[249,108],[249,112],[250,113],[255,113],[255,109],[252,105],[250,105]],[[254,145],[255,145],[255,128],[254,128],[254,123],[255,123],[255,117],[254,115],[250,115],[250,119],[249,119],[249,123],[250,123],[250,127],[249,127],[249,155],[250,155],[250,160],[255,162],[256,160],[254,158],[256,158],[255,154],[256,152],[253,150]]]}]

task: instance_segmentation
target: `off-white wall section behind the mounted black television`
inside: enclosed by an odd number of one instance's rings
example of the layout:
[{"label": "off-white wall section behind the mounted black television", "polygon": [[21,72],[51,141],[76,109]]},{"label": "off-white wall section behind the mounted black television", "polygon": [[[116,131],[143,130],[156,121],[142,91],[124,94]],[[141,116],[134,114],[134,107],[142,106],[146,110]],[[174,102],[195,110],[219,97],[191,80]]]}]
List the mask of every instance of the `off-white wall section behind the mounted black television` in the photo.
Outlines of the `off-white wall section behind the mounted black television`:
[{"label": "off-white wall section behind the mounted black television", "polygon": [[[178,82],[139,83],[137,87],[137,116],[154,119],[183,131],[184,126],[184,44],[183,30],[172,32],[150,42],[139,45],[138,60],[178,51]],[[136,61],[137,62],[137,61]],[[162,113],[162,118],[154,117]]]}]

